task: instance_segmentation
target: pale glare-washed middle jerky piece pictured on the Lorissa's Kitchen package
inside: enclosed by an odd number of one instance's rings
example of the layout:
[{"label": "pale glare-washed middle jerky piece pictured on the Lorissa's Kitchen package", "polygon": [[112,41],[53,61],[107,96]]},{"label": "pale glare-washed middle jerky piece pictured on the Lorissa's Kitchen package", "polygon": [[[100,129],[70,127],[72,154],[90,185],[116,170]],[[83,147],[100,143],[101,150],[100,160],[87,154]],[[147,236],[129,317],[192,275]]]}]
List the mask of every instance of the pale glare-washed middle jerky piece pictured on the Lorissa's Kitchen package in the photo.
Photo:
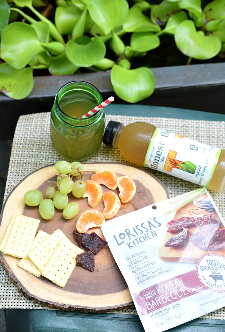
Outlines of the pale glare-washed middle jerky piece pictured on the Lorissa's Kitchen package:
[{"label": "pale glare-washed middle jerky piece pictured on the Lorissa's Kitchen package", "polygon": [[209,243],[216,232],[216,227],[206,225],[199,232],[191,235],[190,241],[201,250],[208,250]]}]

